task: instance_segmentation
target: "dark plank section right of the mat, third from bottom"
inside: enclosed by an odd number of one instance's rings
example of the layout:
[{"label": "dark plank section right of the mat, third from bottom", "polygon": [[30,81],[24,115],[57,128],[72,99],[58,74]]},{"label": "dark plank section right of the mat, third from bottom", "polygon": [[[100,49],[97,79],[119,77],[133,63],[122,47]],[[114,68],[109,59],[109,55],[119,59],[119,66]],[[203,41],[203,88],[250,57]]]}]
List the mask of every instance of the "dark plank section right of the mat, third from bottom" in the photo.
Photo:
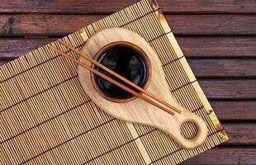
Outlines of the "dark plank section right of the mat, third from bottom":
[{"label": "dark plank section right of the mat, third from bottom", "polygon": [[256,120],[256,101],[210,101],[220,120]]}]

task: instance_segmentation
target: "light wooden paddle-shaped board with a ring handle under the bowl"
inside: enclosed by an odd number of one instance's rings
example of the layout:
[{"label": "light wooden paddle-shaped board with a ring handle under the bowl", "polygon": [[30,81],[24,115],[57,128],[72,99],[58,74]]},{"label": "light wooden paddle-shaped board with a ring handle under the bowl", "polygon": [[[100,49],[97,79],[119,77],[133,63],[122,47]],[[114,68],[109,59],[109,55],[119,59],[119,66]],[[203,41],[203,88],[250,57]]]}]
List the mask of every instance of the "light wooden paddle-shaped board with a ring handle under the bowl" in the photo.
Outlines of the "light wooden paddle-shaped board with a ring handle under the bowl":
[{"label": "light wooden paddle-shaped board with a ring handle under the bowl", "polygon": [[[174,97],[172,97],[171,92],[168,90],[168,83],[164,78],[164,71],[158,55],[152,47],[142,37],[140,37],[140,35],[124,28],[106,29],[93,35],[84,45],[82,51],[93,58],[94,55],[102,49],[102,47],[110,43],[120,41],[138,45],[140,49],[145,51],[152,67],[149,87],[147,87],[146,90],[154,93],[154,95],[159,96],[162,99],[165,99],[165,101],[168,101],[171,105],[178,107],[182,113],[169,115],[141,99],[135,99],[125,103],[108,101],[97,92],[95,87],[93,87],[90,72],[87,69],[78,66],[79,81],[81,82],[84,91],[92,98],[92,101],[94,101],[97,106],[100,106],[102,110],[117,119],[126,120],[132,123],[150,125],[158,128],[159,130],[164,130],[164,132],[169,134],[184,148],[196,148],[200,146],[205,141],[207,135],[205,122],[201,120],[198,115],[193,114],[191,111],[188,111],[183,106],[179,105],[177,101],[174,101]],[[80,58],[80,60],[84,64],[91,65],[86,59]],[[198,132],[194,139],[186,139],[181,134],[181,126],[186,121],[192,121],[197,125]]]}]

